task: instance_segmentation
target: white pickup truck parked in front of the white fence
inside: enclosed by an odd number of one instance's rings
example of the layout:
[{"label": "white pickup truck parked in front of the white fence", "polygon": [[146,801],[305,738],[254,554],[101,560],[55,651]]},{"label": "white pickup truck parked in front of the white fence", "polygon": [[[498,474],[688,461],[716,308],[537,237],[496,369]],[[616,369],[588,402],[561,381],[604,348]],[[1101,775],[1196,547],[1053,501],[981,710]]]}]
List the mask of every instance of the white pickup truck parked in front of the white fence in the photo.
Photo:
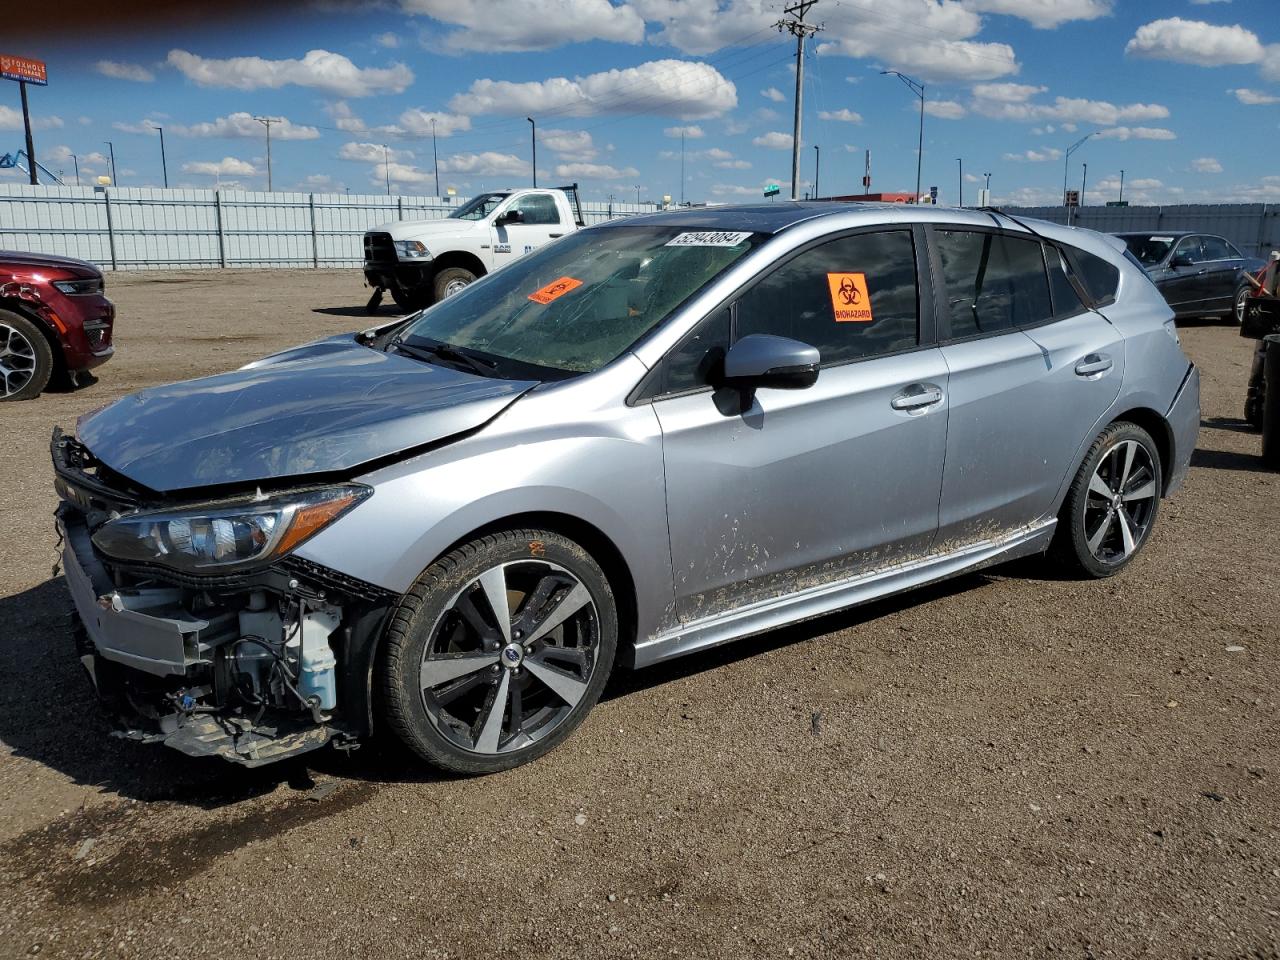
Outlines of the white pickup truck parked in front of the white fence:
[{"label": "white pickup truck parked in front of the white fence", "polygon": [[582,227],[577,184],[481,193],[443,220],[397,220],[365,234],[370,314],[389,291],[402,310],[444,300],[477,276]]}]

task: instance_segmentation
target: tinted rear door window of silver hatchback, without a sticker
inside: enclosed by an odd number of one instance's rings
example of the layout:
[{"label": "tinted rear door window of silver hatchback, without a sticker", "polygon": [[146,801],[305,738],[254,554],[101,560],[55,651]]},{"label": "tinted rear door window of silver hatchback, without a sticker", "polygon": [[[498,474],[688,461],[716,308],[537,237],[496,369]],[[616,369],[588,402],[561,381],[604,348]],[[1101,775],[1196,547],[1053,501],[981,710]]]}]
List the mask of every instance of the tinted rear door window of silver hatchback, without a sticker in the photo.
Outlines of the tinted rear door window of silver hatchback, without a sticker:
[{"label": "tinted rear door window of silver hatchback, without a sticker", "polygon": [[1044,323],[1053,315],[1038,241],[978,230],[934,229],[951,339]]}]

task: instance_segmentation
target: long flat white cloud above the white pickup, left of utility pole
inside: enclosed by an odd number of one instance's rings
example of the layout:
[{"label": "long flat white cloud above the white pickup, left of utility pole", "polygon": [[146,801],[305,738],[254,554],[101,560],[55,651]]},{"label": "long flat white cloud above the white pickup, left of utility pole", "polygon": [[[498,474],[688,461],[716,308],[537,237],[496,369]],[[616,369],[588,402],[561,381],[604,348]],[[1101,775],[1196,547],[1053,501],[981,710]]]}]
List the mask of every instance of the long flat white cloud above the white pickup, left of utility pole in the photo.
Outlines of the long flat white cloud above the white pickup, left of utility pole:
[{"label": "long flat white cloud above the white pickup, left of utility pole", "polygon": [[552,77],[527,83],[477,79],[449,105],[460,113],[511,116],[554,110],[567,116],[609,113],[698,119],[718,116],[737,106],[737,88],[705,63],[650,60],[573,79]]}]

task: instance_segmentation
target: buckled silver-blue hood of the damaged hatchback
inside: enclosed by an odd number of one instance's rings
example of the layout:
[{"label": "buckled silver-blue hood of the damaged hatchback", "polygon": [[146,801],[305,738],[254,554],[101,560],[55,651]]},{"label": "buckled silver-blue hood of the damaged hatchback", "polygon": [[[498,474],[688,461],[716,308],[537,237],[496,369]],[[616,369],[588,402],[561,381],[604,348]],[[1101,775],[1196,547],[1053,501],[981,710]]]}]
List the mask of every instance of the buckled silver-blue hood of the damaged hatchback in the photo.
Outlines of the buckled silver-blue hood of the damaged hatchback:
[{"label": "buckled silver-blue hood of the damaged hatchback", "polygon": [[172,493],[352,471],[475,430],[534,385],[343,335],[141,390],[82,417],[77,435],[111,470]]}]

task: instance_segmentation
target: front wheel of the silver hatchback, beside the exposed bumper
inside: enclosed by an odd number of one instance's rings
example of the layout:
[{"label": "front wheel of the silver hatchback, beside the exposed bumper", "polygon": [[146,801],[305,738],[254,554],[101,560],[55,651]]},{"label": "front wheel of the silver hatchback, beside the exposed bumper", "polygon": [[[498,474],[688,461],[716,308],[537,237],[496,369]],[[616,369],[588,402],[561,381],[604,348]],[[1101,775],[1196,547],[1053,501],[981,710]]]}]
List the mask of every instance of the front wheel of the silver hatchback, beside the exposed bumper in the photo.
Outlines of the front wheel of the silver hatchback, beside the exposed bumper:
[{"label": "front wheel of the silver hatchback, beside the exposed bumper", "polygon": [[475,539],[428,567],[392,617],[385,719],[447,771],[529,763],[595,705],[617,639],[609,581],[582,547],[549,530]]}]

